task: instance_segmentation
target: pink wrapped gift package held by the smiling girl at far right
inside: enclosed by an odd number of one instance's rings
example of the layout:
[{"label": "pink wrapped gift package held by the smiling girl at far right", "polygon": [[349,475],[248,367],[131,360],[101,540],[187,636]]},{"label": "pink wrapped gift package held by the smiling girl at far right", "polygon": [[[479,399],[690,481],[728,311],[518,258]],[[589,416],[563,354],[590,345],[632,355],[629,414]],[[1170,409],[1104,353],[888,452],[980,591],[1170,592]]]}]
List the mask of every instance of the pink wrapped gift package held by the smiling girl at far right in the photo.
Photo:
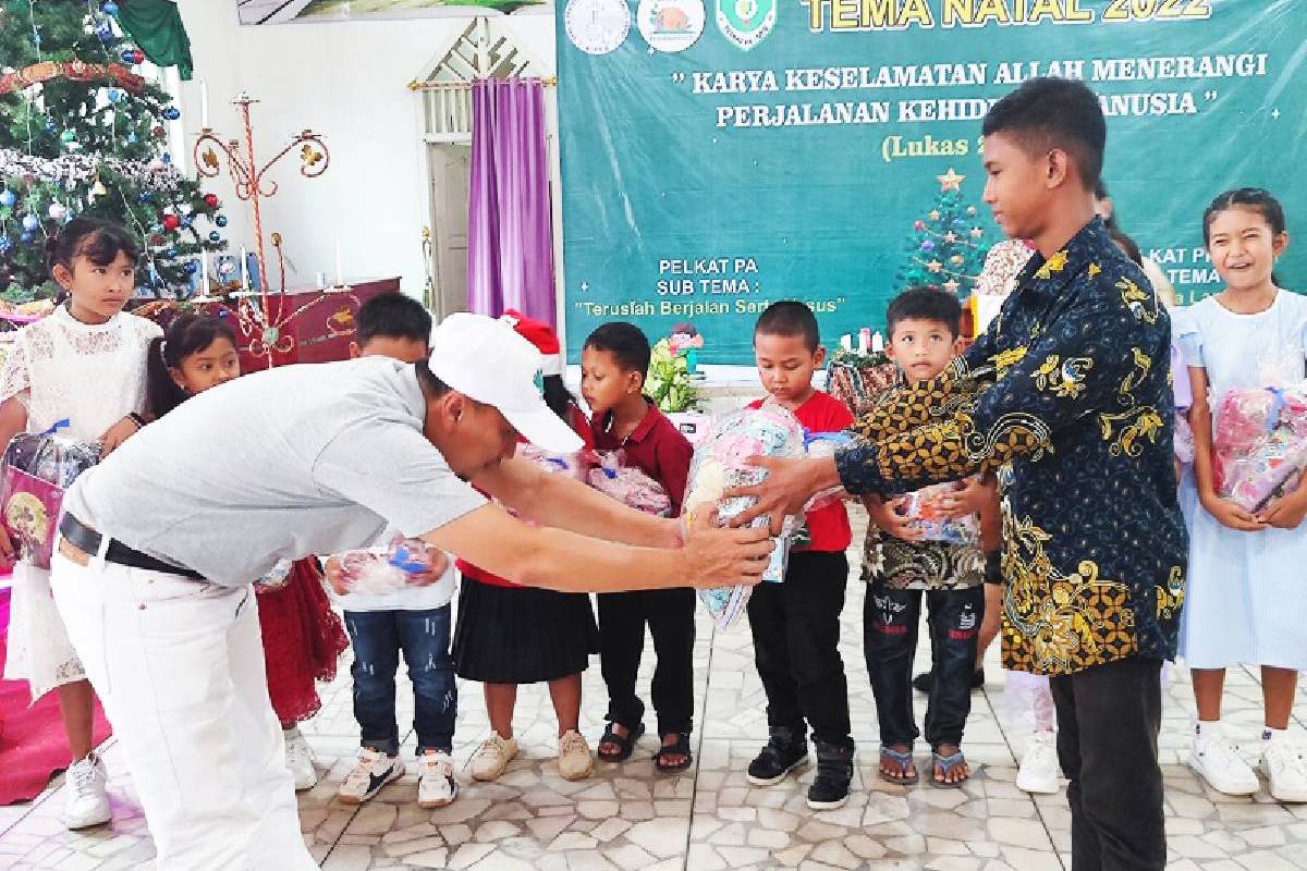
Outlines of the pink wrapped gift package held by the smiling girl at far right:
[{"label": "pink wrapped gift package held by the smiling girl at far right", "polygon": [[1257,511],[1307,467],[1307,385],[1227,390],[1217,409],[1217,492]]}]

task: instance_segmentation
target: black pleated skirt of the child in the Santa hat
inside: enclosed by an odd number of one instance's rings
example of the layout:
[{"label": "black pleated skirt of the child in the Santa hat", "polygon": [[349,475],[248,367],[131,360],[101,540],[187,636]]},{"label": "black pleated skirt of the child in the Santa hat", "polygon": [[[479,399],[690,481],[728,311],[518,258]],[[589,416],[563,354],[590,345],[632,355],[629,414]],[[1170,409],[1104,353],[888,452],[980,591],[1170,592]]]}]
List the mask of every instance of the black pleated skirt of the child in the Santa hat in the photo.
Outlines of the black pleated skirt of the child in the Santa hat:
[{"label": "black pleated skirt of the child in the Santa hat", "polygon": [[586,593],[463,578],[454,670],[464,680],[557,680],[584,671],[592,653],[599,653],[599,628]]}]

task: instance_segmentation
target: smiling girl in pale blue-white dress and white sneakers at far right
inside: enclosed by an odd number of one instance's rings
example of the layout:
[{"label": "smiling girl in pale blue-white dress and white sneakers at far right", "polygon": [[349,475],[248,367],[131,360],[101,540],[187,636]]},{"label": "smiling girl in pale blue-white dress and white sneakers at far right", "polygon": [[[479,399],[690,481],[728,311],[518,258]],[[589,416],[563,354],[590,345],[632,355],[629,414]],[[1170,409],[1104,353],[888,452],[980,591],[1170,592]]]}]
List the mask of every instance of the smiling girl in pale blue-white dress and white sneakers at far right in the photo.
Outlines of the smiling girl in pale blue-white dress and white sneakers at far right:
[{"label": "smiling girl in pale blue-white dress and white sneakers at far right", "polygon": [[1273,798],[1307,802],[1307,761],[1287,733],[1298,671],[1307,669],[1307,486],[1249,512],[1217,494],[1212,464],[1214,410],[1227,390],[1302,381],[1307,296],[1276,286],[1272,266],[1289,234],[1265,191],[1222,193],[1202,232],[1225,290],[1174,317],[1193,387],[1193,474],[1182,490],[1191,529],[1180,656],[1199,708],[1189,765],[1221,793],[1257,791],[1256,774],[1222,733],[1221,695],[1229,666],[1261,666],[1261,768]]}]

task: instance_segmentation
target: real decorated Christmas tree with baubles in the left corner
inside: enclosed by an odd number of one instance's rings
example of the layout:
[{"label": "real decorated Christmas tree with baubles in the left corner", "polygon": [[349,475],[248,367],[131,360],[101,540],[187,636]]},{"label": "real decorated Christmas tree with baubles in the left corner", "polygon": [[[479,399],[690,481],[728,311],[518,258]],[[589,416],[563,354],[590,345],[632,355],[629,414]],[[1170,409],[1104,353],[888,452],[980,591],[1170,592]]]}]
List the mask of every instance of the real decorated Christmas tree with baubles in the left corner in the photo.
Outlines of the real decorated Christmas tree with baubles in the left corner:
[{"label": "real decorated Christmas tree with baubles in the left corner", "polygon": [[[175,7],[119,3],[152,17],[142,37],[152,56],[188,77]],[[77,214],[140,236],[137,282],[156,296],[186,295],[200,252],[225,247],[218,198],[166,151],[165,123],[180,112],[142,77],[146,54],[124,39],[119,14],[112,0],[0,0],[0,295],[9,302],[54,294],[44,243]],[[167,60],[154,50],[159,16],[171,16]]]}]

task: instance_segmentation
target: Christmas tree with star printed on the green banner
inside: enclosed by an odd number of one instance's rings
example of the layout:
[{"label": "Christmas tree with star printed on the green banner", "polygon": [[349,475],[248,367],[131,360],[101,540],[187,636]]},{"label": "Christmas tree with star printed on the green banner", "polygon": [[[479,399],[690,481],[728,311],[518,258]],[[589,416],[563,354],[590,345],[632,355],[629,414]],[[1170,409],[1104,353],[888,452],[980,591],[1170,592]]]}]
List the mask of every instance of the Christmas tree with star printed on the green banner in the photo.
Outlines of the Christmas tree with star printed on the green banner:
[{"label": "Christmas tree with star printed on the green banner", "polygon": [[918,219],[907,245],[897,287],[931,287],[959,299],[971,295],[989,253],[989,234],[980,223],[979,210],[962,197],[965,175],[950,167],[937,175],[940,195],[935,206]]}]

